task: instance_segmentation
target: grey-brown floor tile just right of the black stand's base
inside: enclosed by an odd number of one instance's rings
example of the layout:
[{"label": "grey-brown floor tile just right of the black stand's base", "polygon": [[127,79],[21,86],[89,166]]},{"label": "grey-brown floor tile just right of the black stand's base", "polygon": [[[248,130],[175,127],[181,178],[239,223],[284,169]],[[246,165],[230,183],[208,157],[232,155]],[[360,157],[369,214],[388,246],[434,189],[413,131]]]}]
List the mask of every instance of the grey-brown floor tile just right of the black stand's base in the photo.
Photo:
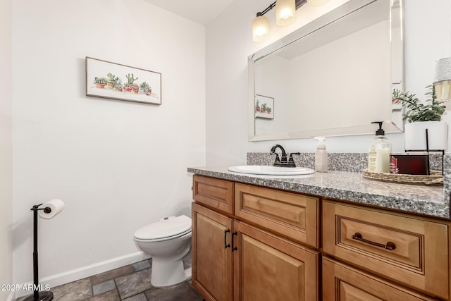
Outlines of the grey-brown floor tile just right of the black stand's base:
[{"label": "grey-brown floor tile just right of the black stand's base", "polygon": [[58,301],[85,300],[92,297],[92,285],[89,278],[84,278],[51,288],[51,292]]}]

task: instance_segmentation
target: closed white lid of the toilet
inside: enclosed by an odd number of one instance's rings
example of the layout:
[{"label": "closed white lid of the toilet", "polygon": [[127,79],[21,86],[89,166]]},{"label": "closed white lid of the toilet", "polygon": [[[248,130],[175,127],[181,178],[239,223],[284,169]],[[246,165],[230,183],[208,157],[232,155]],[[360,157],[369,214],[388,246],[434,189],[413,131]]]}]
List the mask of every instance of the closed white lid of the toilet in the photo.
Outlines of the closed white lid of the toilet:
[{"label": "closed white lid of the toilet", "polygon": [[149,223],[149,225],[135,232],[135,238],[140,240],[156,240],[186,233],[190,230],[191,219],[187,216],[180,215]]}]

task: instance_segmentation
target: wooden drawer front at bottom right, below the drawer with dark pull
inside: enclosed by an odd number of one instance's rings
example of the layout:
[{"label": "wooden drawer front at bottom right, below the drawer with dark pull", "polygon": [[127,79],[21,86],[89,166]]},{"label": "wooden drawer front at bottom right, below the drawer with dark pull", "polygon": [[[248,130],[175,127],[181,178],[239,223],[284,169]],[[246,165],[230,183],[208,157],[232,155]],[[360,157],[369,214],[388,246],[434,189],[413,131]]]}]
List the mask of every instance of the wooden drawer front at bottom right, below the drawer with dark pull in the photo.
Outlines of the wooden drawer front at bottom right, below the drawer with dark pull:
[{"label": "wooden drawer front at bottom right, below the drawer with dark pull", "polygon": [[323,257],[323,301],[435,300]]}]

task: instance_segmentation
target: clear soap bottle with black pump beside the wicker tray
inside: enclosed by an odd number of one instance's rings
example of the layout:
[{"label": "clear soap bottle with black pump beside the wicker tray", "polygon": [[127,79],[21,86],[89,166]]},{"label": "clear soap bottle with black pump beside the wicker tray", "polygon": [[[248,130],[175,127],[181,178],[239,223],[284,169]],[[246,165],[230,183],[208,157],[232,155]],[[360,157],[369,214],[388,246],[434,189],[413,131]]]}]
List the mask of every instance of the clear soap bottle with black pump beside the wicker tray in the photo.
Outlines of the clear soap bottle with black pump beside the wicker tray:
[{"label": "clear soap bottle with black pump beside the wicker tray", "polygon": [[378,123],[379,128],[376,130],[376,137],[371,140],[368,153],[368,171],[373,173],[390,173],[390,152],[391,143],[384,134],[382,129],[382,121],[374,121]]}]

